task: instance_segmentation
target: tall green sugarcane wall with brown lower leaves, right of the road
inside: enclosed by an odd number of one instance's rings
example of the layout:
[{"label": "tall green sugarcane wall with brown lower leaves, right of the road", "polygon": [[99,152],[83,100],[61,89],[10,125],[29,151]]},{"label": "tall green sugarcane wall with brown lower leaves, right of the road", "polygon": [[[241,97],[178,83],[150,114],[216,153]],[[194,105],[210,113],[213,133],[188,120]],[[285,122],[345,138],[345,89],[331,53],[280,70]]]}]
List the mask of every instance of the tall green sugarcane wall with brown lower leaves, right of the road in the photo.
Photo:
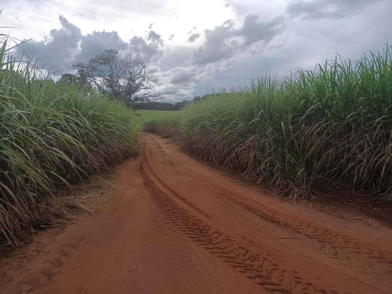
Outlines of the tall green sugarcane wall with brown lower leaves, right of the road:
[{"label": "tall green sugarcane wall with brown lower leaves, right of the road", "polygon": [[312,199],[315,183],[332,181],[392,201],[390,49],[262,76],[146,128],[175,126],[186,151],[292,198]]}]

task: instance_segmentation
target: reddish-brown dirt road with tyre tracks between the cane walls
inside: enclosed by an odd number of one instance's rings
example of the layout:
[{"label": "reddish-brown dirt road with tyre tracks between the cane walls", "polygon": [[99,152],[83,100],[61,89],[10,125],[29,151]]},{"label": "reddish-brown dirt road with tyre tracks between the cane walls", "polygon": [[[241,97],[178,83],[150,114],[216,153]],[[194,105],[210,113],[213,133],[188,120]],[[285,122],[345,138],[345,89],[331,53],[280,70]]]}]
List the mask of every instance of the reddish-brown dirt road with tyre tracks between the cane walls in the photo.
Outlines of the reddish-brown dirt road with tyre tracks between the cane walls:
[{"label": "reddish-brown dirt road with tyre tracks between the cane walls", "polygon": [[0,292],[392,293],[390,229],[278,202],[152,134],[120,169],[116,206],[69,225]]}]

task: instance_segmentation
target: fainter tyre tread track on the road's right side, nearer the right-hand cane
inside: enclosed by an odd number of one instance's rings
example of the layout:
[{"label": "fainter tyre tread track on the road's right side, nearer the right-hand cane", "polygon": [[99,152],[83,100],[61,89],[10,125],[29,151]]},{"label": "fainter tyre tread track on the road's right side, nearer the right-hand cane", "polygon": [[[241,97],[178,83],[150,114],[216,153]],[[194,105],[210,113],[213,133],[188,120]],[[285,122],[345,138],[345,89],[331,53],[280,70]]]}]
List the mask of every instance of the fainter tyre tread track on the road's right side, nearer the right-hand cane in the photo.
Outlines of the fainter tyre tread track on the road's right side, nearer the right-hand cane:
[{"label": "fainter tyre tread track on the road's right side, nearer the right-hand cane", "polygon": [[[154,143],[159,144],[159,142],[153,136],[149,137]],[[188,167],[183,165],[181,162],[178,163],[185,170],[187,170],[189,176],[194,178],[195,174],[189,172]],[[218,196],[218,198],[223,200],[223,202],[226,204],[232,203],[251,212],[259,218],[270,221],[279,226],[287,227],[291,230],[294,230],[295,232],[298,232],[299,234],[316,239],[322,243],[328,243],[351,254],[363,256],[365,258],[371,258],[374,262],[377,263],[387,263],[388,267],[392,267],[392,250],[379,248],[374,243],[358,240],[353,236],[332,230],[327,226],[312,223],[307,220],[305,221],[302,218],[290,216],[289,214],[281,212],[278,209],[274,209],[255,200],[245,198],[242,195],[236,194],[219,185],[216,185],[215,183],[200,175],[196,176],[200,179],[201,182],[203,182],[203,185],[207,189],[216,194],[216,196]]]}]

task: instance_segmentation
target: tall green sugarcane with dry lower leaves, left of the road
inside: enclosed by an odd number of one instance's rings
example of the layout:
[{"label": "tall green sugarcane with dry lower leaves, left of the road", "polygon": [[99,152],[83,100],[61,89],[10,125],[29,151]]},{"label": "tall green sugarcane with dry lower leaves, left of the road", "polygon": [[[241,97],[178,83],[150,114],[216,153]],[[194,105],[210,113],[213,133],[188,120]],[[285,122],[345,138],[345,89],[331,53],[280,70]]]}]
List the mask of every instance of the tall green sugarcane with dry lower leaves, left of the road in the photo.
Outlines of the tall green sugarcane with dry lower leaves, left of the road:
[{"label": "tall green sugarcane with dry lower leaves, left of the road", "polygon": [[0,242],[15,246],[53,223],[56,189],[138,154],[142,121],[90,88],[54,83],[0,44]]}]

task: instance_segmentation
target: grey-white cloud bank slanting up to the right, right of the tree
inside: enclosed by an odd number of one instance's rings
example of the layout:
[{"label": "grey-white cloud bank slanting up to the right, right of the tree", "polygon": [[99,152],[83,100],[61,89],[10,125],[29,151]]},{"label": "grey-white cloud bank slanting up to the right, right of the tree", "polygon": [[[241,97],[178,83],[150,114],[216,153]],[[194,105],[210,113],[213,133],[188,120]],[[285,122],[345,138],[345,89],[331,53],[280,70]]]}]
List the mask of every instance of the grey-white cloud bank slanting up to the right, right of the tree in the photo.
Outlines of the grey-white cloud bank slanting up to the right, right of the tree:
[{"label": "grey-white cloud bank slanting up to the right, right of the tree", "polygon": [[[198,85],[211,81],[217,71],[232,67],[243,55],[247,59],[262,56],[274,36],[282,31],[282,22],[281,17],[261,20],[258,15],[250,14],[240,25],[227,20],[205,30],[205,41],[192,50],[190,58],[180,67],[160,73],[160,91],[168,100],[192,98]],[[192,32],[189,38],[194,35]],[[258,45],[257,51],[252,51],[254,45]]]}]

